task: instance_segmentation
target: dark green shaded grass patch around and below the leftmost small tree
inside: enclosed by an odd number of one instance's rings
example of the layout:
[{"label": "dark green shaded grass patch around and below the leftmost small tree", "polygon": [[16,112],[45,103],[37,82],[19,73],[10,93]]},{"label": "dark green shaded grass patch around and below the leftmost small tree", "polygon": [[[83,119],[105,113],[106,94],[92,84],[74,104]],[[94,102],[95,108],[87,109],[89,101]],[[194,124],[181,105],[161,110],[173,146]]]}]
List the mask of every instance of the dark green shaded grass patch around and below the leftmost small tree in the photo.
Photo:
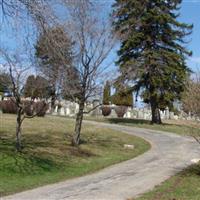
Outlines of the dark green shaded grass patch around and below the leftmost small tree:
[{"label": "dark green shaded grass patch around and below the leftmost small tree", "polygon": [[51,155],[45,157],[27,146],[21,152],[16,152],[14,141],[13,137],[0,139],[0,174],[33,175],[61,168],[51,159]]}]

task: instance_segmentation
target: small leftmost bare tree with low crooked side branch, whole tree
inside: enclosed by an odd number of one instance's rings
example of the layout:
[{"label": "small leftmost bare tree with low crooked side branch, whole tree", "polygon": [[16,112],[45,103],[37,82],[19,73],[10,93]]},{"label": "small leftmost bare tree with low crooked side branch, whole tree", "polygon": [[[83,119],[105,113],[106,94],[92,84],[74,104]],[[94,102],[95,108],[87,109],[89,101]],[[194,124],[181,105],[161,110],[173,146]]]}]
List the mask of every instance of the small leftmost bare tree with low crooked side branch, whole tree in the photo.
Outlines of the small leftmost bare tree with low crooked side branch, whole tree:
[{"label": "small leftmost bare tree with low crooked side branch, whole tree", "polygon": [[16,117],[16,150],[22,150],[21,143],[21,134],[22,134],[22,123],[26,118],[33,118],[38,115],[46,107],[46,103],[43,103],[43,107],[41,110],[37,111],[37,113],[27,114],[27,107],[33,104],[34,99],[31,101],[24,102],[23,101],[23,90],[25,79],[28,74],[28,70],[30,67],[26,67],[26,63],[22,62],[22,58],[18,55],[11,55],[11,53],[7,53],[5,50],[0,49],[0,56],[4,62],[4,69],[9,74],[10,85],[8,85],[9,90],[12,92],[11,100],[17,107],[17,117]]}]

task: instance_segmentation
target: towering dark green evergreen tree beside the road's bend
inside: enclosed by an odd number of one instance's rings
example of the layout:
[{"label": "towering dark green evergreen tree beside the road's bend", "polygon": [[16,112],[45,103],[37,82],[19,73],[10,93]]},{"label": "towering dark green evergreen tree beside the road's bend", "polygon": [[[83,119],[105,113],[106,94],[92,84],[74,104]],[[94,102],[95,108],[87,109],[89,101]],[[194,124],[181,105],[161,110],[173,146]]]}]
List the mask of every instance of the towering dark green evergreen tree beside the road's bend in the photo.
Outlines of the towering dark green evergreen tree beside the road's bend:
[{"label": "towering dark green evergreen tree beside the road's bend", "polygon": [[192,25],[180,23],[181,0],[116,0],[113,25],[121,47],[118,65],[123,79],[134,81],[137,94],[151,105],[152,123],[161,123],[159,109],[181,97],[191,55],[183,44]]}]

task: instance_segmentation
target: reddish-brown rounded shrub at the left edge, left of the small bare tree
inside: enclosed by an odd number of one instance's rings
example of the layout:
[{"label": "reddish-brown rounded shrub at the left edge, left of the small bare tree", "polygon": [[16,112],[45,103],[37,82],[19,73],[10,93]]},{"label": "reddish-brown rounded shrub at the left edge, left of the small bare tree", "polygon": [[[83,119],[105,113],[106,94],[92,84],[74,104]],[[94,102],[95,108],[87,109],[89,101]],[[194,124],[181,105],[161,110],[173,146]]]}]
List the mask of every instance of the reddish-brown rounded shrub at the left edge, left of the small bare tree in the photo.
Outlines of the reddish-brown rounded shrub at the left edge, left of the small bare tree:
[{"label": "reddish-brown rounded shrub at the left edge, left of the small bare tree", "polygon": [[0,102],[0,109],[3,113],[16,114],[17,106],[14,100],[3,100]]}]

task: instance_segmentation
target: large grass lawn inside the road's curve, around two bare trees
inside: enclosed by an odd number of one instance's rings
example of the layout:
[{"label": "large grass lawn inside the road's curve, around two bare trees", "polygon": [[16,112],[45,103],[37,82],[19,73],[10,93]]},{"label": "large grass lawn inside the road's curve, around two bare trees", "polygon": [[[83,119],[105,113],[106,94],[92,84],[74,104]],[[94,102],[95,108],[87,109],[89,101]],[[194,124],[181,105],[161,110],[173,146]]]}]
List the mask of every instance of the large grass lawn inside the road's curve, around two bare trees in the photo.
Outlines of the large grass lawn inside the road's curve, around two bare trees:
[{"label": "large grass lawn inside the road's curve, around two bare trees", "polygon": [[[63,117],[27,119],[22,153],[15,151],[15,116],[0,114],[0,197],[92,173],[144,153],[149,143],[124,133],[83,126],[82,144],[70,145],[72,120]],[[133,144],[135,149],[124,149]]]}]

